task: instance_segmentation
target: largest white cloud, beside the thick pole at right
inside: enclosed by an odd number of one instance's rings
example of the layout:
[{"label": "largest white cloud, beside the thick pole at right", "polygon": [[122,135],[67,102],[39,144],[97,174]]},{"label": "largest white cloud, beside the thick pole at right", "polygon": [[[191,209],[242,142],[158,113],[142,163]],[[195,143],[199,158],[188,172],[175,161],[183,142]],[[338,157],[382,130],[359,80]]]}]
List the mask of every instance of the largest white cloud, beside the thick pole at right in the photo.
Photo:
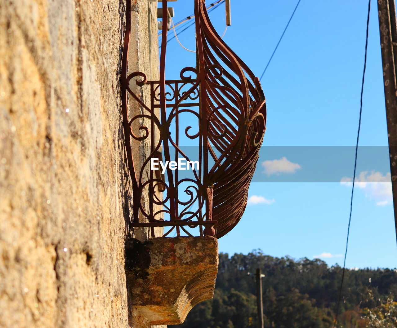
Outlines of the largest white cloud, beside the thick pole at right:
[{"label": "largest white cloud, beside the thick pole at right", "polygon": [[[393,203],[390,173],[382,175],[380,172],[361,172],[355,181],[355,186],[365,192],[365,196],[374,199],[376,205],[384,206]],[[343,177],[341,184],[352,185],[352,179]]]}]

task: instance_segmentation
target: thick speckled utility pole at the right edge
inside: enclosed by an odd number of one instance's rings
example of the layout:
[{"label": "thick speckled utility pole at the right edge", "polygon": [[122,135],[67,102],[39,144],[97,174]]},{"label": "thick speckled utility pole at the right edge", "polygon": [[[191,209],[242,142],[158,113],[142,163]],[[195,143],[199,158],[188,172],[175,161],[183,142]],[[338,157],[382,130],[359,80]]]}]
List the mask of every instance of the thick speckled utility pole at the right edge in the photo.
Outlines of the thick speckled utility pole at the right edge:
[{"label": "thick speckled utility pole at the right edge", "polygon": [[397,23],[394,0],[378,0],[380,48],[389,139],[391,187],[397,238]]}]

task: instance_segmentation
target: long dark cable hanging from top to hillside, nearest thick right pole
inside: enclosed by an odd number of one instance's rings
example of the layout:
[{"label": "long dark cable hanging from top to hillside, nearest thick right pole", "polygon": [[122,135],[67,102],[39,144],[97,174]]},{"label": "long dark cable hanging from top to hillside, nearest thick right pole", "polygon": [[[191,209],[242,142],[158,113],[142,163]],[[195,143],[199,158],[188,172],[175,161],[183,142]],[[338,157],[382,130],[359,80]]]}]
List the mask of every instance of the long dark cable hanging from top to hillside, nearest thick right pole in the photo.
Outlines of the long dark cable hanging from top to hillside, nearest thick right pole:
[{"label": "long dark cable hanging from top to hillside, nearest thick right pole", "polygon": [[345,278],[345,268],[346,268],[346,256],[347,256],[347,246],[349,244],[349,232],[350,232],[350,223],[351,223],[351,212],[353,209],[353,192],[354,192],[354,183],[356,178],[356,167],[357,167],[357,152],[358,152],[358,138],[360,137],[360,127],[361,127],[361,113],[362,113],[362,94],[364,91],[364,77],[365,77],[365,68],[367,64],[367,48],[368,48],[368,27],[370,22],[370,9],[371,9],[371,0],[368,1],[368,15],[367,15],[367,31],[366,31],[366,38],[365,38],[365,54],[364,54],[364,69],[362,71],[362,82],[361,82],[361,96],[360,96],[360,115],[358,118],[358,131],[357,131],[357,142],[356,142],[356,153],[355,153],[355,160],[354,160],[354,171],[353,171],[353,186],[351,188],[351,198],[350,198],[350,214],[349,214],[349,224],[347,226],[347,238],[346,238],[346,250],[345,250],[345,259],[343,261],[343,270],[342,270],[342,280],[341,280],[341,287],[339,289],[339,297],[338,297],[338,304],[336,307],[336,315],[334,326],[336,327],[338,315],[339,315],[339,306],[341,303],[342,297],[342,287],[343,287],[343,280]]}]

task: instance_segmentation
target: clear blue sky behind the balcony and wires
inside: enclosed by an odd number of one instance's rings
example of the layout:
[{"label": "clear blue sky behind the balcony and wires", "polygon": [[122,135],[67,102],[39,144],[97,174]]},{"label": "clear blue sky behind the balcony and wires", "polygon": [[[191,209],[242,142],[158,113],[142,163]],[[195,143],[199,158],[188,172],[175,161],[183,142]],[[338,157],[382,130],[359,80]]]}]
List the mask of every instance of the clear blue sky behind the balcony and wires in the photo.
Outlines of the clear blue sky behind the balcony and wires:
[{"label": "clear blue sky behind the balcony and wires", "polygon": [[[256,76],[262,74],[296,3],[232,0],[232,25],[224,40]],[[175,8],[175,23],[193,13],[193,1],[178,0],[169,2],[169,6]],[[295,152],[302,146],[355,146],[367,6],[368,2],[358,0],[301,0],[262,79],[268,111],[263,145],[288,147],[274,158],[267,156],[267,164],[262,164],[265,160],[261,159],[256,175],[293,181],[285,177],[303,172],[311,155],[294,157],[289,151],[291,146]],[[222,34],[224,5],[210,17]],[[169,33],[172,36],[172,31]],[[193,50],[194,33],[191,27],[179,35],[183,45]],[[174,39],[168,43],[166,65],[166,78],[178,78],[183,67],[195,65],[195,54],[181,48]],[[360,146],[387,146],[374,0],[363,101]],[[354,149],[349,149],[351,156],[343,157],[343,165],[351,167],[351,172],[341,175],[340,180],[334,178],[335,182],[252,183],[247,210],[240,223],[219,240],[220,251],[248,253],[260,248],[272,256],[311,259],[321,255],[329,265],[343,265],[351,193],[348,178],[353,175],[354,165]],[[397,247],[390,186],[368,183],[387,181],[387,151],[372,158],[367,167],[368,155],[361,149],[358,174],[364,173],[354,194],[346,266],[394,268]],[[281,165],[281,169],[272,171],[272,164]],[[328,174],[332,166],[324,170]]]}]

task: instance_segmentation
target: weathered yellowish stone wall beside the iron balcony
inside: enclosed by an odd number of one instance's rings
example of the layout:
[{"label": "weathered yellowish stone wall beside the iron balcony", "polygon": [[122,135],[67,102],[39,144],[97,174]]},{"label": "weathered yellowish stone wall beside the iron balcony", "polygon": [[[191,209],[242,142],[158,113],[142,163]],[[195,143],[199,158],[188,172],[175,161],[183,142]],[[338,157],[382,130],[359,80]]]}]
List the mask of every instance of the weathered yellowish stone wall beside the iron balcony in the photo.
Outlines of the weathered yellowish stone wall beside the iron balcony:
[{"label": "weathered yellowish stone wall beside the iron balcony", "polygon": [[[130,71],[157,71],[156,5],[133,0]],[[125,0],[0,0],[2,328],[147,326],[125,286],[124,28]]]}]

